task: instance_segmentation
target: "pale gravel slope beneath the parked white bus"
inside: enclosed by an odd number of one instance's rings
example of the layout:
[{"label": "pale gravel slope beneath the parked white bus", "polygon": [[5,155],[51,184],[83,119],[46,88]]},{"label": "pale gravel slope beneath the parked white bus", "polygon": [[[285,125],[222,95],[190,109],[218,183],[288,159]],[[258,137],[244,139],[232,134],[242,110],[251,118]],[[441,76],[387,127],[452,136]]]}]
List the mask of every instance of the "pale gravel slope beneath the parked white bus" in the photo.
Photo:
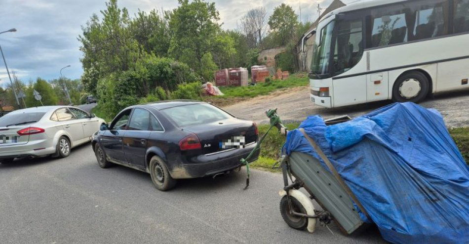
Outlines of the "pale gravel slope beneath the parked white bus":
[{"label": "pale gravel slope beneath the parked white bus", "polygon": [[[277,113],[284,122],[301,122],[310,115],[321,115],[328,119],[347,114],[354,118],[390,103],[391,101],[380,101],[327,109],[310,102],[309,87],[296,87],[275,91],[269,95],[247,98],[234,105],[224,106],[223,109],[239,118],[267,123],[264,112],[277,108]],[[421,105],[437,109],[444,116],[448,127],[469,126],[469,90],[437,94]]]}]

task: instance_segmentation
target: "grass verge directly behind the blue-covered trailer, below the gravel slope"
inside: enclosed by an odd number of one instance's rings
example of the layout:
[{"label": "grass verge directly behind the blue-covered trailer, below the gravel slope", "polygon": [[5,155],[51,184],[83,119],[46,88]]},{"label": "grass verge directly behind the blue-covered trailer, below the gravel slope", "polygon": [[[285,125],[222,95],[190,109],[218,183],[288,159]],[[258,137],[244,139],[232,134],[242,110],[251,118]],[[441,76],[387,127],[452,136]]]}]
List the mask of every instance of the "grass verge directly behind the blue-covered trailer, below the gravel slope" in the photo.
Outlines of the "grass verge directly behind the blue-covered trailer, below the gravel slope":
[{"label": "grass verge directly behind the blue-covered trailer, below the gravel slope", "polygon": [[[295,129],[299,126],[299,123],[286,124],[289,130]],[[259,134],[263,135],[266,133],[269,125],[263,124],[259,125]],[[453,128],[448,129],[451,137],[456,142],[456,145],[459,148],[459,151],[466,160],[466,163],[469,165],[469,127]],[[285,143],[285,137],[280,135],[276,128],[272,128],[269,131],[266,139],[261,145],[261,154],[259,160],[251,164],[252,167],[268,170],[271,172],[280,172],[279,169],[272,169],[272,166],[275,164],[280,149]]]}]

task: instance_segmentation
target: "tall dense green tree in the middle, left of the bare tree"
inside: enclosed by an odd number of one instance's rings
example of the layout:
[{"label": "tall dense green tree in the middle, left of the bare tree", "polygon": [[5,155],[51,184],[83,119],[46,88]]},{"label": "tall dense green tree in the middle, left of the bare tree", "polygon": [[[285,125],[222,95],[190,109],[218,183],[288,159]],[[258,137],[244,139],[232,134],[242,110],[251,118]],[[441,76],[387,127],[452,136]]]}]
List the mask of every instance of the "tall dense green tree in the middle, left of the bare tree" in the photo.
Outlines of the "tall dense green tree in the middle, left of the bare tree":
[{"label": "tall dense green tree in the middle, left of the bare tree", "polygon": [[[205,74],[207,55],[215,50],[217,38],[221,32],[219,13],[215,3],[203,0],[179,0],[179,7],[167,15],[171,42],[169,54],[176,60],[187,63],[199,75]],[[226,48],[233,48],[227,46]],[[210,55],[211,56],[211,55]],[[202,58],[205,57],[205,62]],[[212,61],[213,62],[213,61]],[[204,79],[213,77],[204,77]]]}]

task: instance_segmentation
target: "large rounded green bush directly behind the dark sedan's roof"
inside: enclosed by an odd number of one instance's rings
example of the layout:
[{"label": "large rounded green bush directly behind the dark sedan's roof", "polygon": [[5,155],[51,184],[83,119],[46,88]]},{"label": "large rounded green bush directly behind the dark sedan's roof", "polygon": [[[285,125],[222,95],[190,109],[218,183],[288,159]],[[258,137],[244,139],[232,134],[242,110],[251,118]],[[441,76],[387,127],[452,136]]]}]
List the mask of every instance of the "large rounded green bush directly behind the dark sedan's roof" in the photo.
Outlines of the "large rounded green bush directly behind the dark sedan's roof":
[{"label": "large rounded green bush directly behind the dark sedan's roof", "polygon": [[185,63],[169,58],[148,57],[134,69],[116,72],[98,80],[100,112],[114,117],[137,103],[175,99],[200,99],[199,77]]}]

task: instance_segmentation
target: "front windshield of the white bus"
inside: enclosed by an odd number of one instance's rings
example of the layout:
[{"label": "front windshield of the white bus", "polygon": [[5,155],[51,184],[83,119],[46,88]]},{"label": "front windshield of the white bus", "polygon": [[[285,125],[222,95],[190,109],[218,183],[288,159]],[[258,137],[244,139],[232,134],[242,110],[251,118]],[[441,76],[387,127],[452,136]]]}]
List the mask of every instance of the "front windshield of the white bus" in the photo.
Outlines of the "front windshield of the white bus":
[{"label": "front windshield of the white bus", "polygon": [[319,32],[316,32],[316,41],[313,46],[313,61],[311,62],[311,73],[315,77],[327,76],[329,74],[329,59],[334,23],[335,21],[331,21],[326,26],[322,27],[322,29],[318,27]]}]

